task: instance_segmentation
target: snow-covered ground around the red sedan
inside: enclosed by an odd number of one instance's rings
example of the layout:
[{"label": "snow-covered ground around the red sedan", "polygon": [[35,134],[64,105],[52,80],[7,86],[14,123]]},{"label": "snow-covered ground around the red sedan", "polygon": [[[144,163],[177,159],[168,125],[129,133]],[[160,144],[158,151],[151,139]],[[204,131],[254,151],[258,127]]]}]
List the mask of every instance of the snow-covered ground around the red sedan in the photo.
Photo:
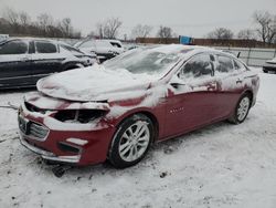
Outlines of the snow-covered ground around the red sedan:
[{"label": "snow-covered ground around the red sedan", "polygon": [[[19,144],[17,113],[0,108],[0,207],[276,207],[276,74],[259,75],[245,123],[156,144],[124,170],[104,164],[56,178]],[[1,93],[0,105],[23,94]]]}]

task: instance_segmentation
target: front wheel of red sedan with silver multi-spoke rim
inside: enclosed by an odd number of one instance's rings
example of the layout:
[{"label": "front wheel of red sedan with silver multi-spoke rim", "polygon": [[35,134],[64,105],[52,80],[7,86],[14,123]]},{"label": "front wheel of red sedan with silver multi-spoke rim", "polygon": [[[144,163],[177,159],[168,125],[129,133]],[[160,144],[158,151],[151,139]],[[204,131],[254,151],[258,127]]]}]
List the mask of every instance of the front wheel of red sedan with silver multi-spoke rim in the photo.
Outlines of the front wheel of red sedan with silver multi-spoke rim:
[{"label": "front wheel of red sedan with silver multi-spoke rim", "polygon": [[118,127],[108,159],[117,168],[139,163],[147,154],[155,135],[153,124],[144,114],[135,114]]}]

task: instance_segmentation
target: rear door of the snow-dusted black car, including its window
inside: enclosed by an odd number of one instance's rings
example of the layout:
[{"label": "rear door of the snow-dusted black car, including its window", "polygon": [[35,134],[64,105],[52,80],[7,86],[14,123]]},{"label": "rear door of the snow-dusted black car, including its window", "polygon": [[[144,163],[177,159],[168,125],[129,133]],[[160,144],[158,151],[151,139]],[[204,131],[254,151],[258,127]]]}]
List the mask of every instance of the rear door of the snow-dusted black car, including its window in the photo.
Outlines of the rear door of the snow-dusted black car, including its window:
[{"label": "rear door of the snow-dusted black car, including its window", "polygon": [[50,41],[34,41],[33,79],[36,82],[51,73],[61,71],[64,54],[60,53],[59,45]]}]

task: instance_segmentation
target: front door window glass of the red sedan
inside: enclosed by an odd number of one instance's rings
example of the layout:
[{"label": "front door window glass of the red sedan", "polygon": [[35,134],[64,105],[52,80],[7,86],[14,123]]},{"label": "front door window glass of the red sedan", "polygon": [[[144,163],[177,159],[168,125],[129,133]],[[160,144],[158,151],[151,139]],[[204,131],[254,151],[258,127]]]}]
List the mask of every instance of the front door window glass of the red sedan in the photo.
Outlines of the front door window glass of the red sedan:
[{"label": "front door window glass of the red sedan", "polygon": [[200,54],[190,59],[180,72],[180,79],[209,77],[213,75],[210,54]]}]

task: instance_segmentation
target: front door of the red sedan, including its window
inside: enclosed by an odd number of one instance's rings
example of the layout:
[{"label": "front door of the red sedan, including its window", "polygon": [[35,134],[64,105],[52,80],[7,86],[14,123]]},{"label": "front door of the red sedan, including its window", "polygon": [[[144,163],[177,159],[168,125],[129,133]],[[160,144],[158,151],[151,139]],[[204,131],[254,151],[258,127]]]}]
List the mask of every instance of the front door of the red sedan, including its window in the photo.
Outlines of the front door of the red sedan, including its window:
[{"label": "front door of the red sedan, including its window", "polygon": [[171,81],[172,93],[167,100],[166,136],[182,134],[220,117],[214,59],[202,53],[190,59],[178,74],[184,84]]}]

